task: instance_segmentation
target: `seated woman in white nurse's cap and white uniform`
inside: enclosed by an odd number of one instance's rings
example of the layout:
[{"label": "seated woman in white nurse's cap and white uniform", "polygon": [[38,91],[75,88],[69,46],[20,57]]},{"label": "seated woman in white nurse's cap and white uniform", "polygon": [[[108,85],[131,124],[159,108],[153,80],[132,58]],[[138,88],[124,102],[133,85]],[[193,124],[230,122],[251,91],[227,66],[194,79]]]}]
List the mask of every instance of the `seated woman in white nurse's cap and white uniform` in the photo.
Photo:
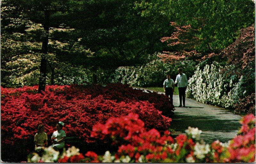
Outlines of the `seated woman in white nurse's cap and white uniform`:
[{"label": "seated woman in white nurse's cap and white uniform", "polygon": [[56,125],[56,131],[52,134],[52,148],[56,151],[59,151],[64,147],[64,141],[66,138],[66,133],[64,130],[62,130],[62,127],[64,126],[64,123],[59,121]]}]

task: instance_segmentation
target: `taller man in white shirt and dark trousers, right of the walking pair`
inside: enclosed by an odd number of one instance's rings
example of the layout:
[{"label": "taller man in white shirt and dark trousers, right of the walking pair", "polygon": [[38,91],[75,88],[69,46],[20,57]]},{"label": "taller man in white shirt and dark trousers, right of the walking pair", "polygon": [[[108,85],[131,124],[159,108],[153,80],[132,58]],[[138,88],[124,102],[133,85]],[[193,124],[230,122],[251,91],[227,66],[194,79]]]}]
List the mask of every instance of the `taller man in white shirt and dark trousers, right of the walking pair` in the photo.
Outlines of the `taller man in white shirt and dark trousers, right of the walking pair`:
[{"label": "taller man in white shirt and dark trousers, right of the walking pair", "polygon": [[180,105],[181,107],[181,100],[183,101],[183,107],[185,107],[185,91],[188,86],[188,79],[186,74],[182,73],[182,69],[178,68],[179,74],[176,77],[175,84],[178,84],[178,89],[179,89],[179,97],[180,97]]}]

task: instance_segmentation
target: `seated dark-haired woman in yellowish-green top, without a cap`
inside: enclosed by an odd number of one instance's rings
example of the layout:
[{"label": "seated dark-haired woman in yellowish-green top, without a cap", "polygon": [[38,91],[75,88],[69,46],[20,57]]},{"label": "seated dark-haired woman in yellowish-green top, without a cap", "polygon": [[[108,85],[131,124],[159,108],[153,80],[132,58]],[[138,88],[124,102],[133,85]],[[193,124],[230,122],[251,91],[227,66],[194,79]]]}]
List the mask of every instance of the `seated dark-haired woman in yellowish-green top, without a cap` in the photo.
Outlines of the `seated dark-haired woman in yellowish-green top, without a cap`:
[{"label": "seated dark-haired woman in yellowish-green top, without a cap", "polygon": [[36,144],[35,151],[40,152],[41,149],[44,150],[44,146],[47,146],[47,134],[44,132],[44,125],[39,125],[37,133],[35,135],[34,142]]}]

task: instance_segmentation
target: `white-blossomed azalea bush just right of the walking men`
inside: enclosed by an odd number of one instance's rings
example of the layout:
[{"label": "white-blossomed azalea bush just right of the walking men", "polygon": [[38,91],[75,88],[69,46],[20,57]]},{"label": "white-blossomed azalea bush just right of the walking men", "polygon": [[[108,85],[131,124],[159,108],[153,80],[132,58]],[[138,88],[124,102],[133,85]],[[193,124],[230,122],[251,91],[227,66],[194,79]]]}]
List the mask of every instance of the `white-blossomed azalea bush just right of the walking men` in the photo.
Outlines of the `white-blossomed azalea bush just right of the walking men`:
[{"label": "white-blossomed azalea bush just right of the walking men", "polygon": [[236,74],[223,73],[222,68],[218,62],[207,64],[203,69],[198,66],[195,74],[188,80],[186,96],[202,103],[232,108],[239,98],[251,92],[246,85],[248,81],[254,82],[255,73],[238,78]]}]

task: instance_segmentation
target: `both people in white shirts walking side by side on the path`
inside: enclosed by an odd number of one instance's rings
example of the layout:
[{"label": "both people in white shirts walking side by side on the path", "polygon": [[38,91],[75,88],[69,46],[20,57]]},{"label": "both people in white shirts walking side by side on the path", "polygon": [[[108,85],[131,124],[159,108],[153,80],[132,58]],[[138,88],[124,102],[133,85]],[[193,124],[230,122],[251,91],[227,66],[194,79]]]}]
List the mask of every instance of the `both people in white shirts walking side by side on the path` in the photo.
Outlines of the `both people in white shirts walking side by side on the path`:
[{"label": "both people in white shirts walking side by side on the path", "polygon": [[185,92],[186,92],[187,86],[188,86],[188,79],[187,79],[186,74],[182,73],[181,68],[178,68],[178,72],[179,72],[179,74],[176,76],[175,82],[171,79],[170,74],[166,75],[167,79],[164,80],[164,92],[167,97],[170,96],[170,99],[172,101],[173,92],[174,92],[174,88],[175,88],[174,84],[178,84],[179,98],[180,98],[179,107],[182,106],[182,102],[183,102],[183,107],[186,107],[185,106]]}]

